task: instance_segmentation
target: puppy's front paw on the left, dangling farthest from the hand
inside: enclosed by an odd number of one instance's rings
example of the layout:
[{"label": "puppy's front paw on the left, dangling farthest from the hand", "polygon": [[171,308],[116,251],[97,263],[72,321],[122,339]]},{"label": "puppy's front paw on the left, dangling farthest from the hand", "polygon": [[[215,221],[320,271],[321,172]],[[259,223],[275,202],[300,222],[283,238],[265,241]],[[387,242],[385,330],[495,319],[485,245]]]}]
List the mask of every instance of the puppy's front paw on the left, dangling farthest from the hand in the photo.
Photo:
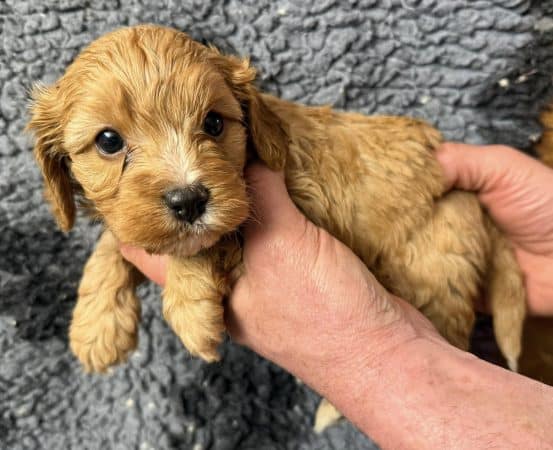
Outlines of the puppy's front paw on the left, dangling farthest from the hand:
[{"label": "puppy's front paw on the left, dangling farthest from the hand", "polygon": [[102,373],[110,366],[126,361],[136,348],[140,311],[107,307],[98,312],[94,309],[75,309],[69,343],[86,372]]}]

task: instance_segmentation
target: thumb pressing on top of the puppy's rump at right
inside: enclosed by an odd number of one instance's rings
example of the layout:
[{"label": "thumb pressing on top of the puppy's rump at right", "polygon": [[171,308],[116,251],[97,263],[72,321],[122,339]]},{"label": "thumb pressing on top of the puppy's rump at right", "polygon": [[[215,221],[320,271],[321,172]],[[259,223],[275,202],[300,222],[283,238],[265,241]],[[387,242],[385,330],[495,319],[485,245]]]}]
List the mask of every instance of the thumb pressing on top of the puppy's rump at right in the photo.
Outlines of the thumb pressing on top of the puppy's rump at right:
[{"label": "thumb pressing on top of the puppy's rump at right", "polygon": [[455,186],[467,191],[483,192],[511,170],[515,161],[528,157],[499,145],[446,142],[438,149],[436,158],[442,166],[447,189]]}]

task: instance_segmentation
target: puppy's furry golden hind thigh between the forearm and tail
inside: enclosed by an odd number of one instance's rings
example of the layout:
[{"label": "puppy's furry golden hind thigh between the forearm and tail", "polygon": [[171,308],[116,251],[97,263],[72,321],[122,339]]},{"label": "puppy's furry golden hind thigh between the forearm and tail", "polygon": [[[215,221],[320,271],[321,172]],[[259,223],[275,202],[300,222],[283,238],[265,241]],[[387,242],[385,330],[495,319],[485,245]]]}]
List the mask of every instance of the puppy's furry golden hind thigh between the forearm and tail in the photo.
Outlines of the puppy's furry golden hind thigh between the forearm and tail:
[{"label": "puppy's furry golden hind thigh between the forearm and tail", "polygon": [[452,192],[438,202],[432,221],[414,231],[376,272],[389,290],[418,308],[451,344],[468,350],[474,301],[490,248],[476,197]]}]

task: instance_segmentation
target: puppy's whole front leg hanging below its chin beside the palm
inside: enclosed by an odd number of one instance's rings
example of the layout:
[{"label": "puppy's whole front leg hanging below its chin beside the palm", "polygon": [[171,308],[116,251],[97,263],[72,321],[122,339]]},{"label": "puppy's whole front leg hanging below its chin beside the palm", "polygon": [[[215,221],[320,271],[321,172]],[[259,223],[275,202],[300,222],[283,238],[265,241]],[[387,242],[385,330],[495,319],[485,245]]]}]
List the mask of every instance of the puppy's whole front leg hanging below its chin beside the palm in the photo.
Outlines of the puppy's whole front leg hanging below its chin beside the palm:
[{"label": "puppy's whole front leg hanging below its chin beside the palm", "polygon": [[163,292],[163,315],[184,346],[208,362],[219,359],[223,340],[223,297],[227,279],[217,267],[214,252],[190,258],[171,258]]}]

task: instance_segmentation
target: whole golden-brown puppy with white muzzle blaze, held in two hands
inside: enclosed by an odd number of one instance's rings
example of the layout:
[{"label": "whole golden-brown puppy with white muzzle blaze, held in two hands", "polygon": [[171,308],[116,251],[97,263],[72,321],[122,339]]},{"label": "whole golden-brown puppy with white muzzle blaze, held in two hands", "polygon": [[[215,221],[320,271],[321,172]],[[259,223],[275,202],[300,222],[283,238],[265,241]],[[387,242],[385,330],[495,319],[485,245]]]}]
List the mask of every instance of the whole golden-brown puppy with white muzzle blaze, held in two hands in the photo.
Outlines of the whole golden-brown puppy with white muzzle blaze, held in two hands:
[{"label": "whole golden-brown puppy with white muzzle blaze, held in two hands", "polygon": [[75,195],[105,223],[71,323],[84,366],[103,371],[136,346],[141,277],[118,242],[170,255],[165,318],[191,354],[217,359],[222,300],[240,270],[235,232],[249,213],[243,169],[259,157],[284,170],[309,219],[462,349],[485,288],[516,369],[523,279],[475,195],[444,192],[439,133],[293,104],[261,94],[254,78],[247,61],[147,25],[103,36],[36,90],[29,127],[61,228],[73,225]]}]

